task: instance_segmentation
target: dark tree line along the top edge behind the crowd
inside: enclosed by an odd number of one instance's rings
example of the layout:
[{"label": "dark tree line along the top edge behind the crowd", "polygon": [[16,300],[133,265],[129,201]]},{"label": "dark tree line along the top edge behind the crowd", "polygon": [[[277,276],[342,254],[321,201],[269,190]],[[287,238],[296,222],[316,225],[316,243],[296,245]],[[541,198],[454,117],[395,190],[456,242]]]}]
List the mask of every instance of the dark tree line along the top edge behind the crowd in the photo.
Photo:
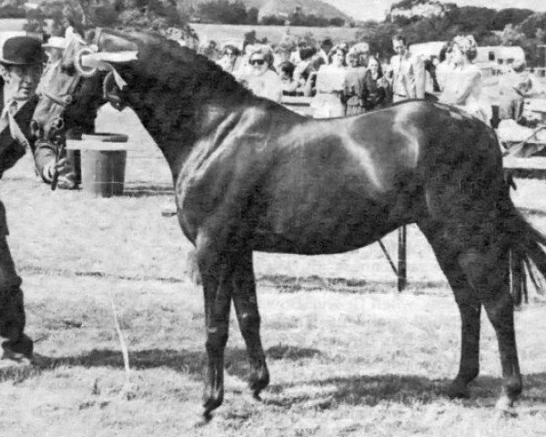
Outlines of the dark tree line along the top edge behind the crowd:
[{"label": "dark tree line along the top edge behind the crowd", "polygon": [[[22,3],[25,0],[21,0]],[[109,27],[137,26],[151,30],[186,28],[192,20],[234,25],[344,25],[342,18],[307,15],[300,8],[287,16],[267,15],[258,19],[258,9],[241,0],[211,0],[187,6],[178,0],[67,0],[45,2],[38,9],[26,11],[21,5],[0,8],[0,17],[26,16],[27,30],[53,20],[54,32],[61,28],[63,10],[69,5],[81,11],[88,25]],[[546,54],[546,13],[531,9],[457,6],[438,0],[401,0],[390,6],[380,22],[357,23],[356,43],[366,41],[371,50],[390,56],[391,38],[402,33],[413,43],[448,41],[460,34],[472,34],[480,46],[521,46],[531,66],[542,66]]]}]

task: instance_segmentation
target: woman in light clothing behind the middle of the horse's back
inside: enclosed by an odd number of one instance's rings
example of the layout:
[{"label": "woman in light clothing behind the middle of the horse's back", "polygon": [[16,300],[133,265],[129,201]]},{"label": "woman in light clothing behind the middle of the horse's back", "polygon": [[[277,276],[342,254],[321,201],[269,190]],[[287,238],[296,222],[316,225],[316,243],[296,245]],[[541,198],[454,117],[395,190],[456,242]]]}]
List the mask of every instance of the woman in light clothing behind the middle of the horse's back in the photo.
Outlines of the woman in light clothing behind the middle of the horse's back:
[{"label": "woman in light clothing behind the middle of the horse's back", "polygon": [[330,64],[320,66],[315,85],[317,94],[310,104],[313,117],[330,118],[345,115],[345,105],[341,97],[345,92],[346,54],[345,47],[334,46],[329,53]]}]

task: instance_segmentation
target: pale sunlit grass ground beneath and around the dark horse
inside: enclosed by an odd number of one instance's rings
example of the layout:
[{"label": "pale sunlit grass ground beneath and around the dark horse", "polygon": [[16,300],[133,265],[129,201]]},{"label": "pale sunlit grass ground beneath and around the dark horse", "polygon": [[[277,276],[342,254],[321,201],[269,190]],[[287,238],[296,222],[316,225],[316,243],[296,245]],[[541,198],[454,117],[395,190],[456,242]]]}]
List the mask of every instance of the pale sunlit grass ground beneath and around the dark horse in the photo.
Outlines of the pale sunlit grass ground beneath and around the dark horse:
[{"label": "pale sunlit grass ground beneath and around the dark horse", "polygon": [[[516,313],[525,391],[519,415],[496,419],[500,362],[483,320],[471,398],[445,387],[460,350],[459,314],[426,241],[410,227],[410,288],[399,295],[375,246],[330,257],[256,254],[271,386],[246,388],[232,320],[226,401],[196,427],[206,361],[201,291],[186,278],[189,245],[174,218],[167,165],[135,117],[111,109],[105,131],[130,134],[126,195],[52,193],[24,158],[5,174],[10,245],[23,276],[28,333],[42,362],[0,382],[0,436],[542,436],[546,430],[546,301]],[[544,182],[514,198],[546,230]],[[395,236],[386,239],[396,248]],[[109,292],[126,337],[132,396]]]}]

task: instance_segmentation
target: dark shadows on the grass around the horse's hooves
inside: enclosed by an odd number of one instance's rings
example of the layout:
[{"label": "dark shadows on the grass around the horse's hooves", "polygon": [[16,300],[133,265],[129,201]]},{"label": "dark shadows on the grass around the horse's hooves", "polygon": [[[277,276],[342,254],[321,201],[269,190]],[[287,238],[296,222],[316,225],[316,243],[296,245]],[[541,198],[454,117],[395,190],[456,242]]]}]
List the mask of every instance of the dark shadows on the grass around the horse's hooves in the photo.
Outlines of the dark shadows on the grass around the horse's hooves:
[{"label": "dark shadows on the grass around the horse's hooves", "polygon": [[[268,361],[298,361],[320,355],[321,352],[315,349],[286,345],[279,345],[267,351]],[[135,370],[169,368],[199,380],[207,366],[205,351],[168,349],[132,351],[129,358],[131,367]],[[116,369],[124,367],[120,351],[110,350],[93,350],[76,357],[41,357],[40,361],[34,371],[24,375],[22,379],[59,366],[86,368],[106,366]],[[227,349],[225,367],[229,374],[245,380],[249,371],[247,351]],[[334,366],[332,371],[335,371]],[[275,381],[274,374],[272,380]],[[464,401],[465,404],[493,407],[500,394],[501,383],[501,378],[478,377],[470,384],[470,399]],[[307,405],[310,402],[320,409],[328,409],[336,404],[375,406],[384,401],[404,405],[427,404],[440,398],[446,399],[449,384],[450,379],[430,379],[404,374],[350,375],[273,384],[267,390],[274,396],[268,397],[265,402],[280,407]],[[523,387],[524,401],[546,404],[546,372],[525,375]]]}]

